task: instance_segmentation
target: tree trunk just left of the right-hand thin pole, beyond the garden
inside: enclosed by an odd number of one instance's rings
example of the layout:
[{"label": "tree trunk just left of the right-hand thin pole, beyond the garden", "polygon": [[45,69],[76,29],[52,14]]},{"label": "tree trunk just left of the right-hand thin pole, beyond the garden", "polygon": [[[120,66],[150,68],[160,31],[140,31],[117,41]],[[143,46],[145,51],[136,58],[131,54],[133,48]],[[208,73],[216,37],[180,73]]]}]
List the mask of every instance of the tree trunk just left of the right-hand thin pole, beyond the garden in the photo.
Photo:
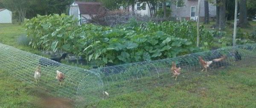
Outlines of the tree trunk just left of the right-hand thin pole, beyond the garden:
[{"label": "tree trunk just left of the right-hand thin pole, beyond the garden", "polygon": [[219,29],[223,29],[226,26],[226,0],[221,0],[219,6]]}]

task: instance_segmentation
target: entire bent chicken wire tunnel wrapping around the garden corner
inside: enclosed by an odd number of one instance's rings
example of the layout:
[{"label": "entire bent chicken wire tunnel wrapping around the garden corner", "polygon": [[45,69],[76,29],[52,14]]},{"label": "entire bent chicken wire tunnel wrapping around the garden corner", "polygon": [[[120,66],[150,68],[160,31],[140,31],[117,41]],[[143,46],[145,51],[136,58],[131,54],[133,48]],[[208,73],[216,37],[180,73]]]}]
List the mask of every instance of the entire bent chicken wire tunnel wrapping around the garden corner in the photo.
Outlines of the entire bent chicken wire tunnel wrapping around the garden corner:
[{"label": "entire bent chicken wire tunnel wrapping around the garden corner", "polygon": [[[189,80],[202,73],[210,73],[238,63],[244,66],[255,60],[256,44],[250,44],[157,61],[87,70],[0,44],[1,70],[31,86],[42,87],[55,97],[69,98],[79,106],[120,94]],[[207,72],[200,72],[203,69]],[[36,77],[36,72],[40,73],[40,77]],[[63,74],[62,77],[57,74],[59,72]],[[173,75],[177,76],[177,80]]]}]

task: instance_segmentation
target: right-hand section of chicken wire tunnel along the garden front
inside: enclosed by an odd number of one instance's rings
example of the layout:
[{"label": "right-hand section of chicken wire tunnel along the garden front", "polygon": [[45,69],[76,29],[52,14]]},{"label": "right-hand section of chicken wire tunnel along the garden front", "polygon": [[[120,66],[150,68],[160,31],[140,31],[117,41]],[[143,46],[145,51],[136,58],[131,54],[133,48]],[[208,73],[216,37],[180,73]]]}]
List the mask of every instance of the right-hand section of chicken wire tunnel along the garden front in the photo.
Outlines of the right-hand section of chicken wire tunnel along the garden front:
[{"label": "right-hand section of chicken wire tunnel along the garden front", "polygon": [[[256,60],[256,44],[241,45],[237,47],[227,47],[201,53],[167,58],[157,61],[144,61],[139,63],[122,64],[98,69],[94,72],[101,73],[104,83],[104,90],[110,97],[126,94],[133,91],[142,91],[155,88],[157,86],[168,86],[176,81],[190,80],[202,75],[199,57],[204,61],[212,61],[207,72],[214,69],[234,66],[242,63],[243,66]],[[177,80],[172,78],[172,62],[177,68],[181,68]],[[204,69],[203,73],[206,69]]]}]

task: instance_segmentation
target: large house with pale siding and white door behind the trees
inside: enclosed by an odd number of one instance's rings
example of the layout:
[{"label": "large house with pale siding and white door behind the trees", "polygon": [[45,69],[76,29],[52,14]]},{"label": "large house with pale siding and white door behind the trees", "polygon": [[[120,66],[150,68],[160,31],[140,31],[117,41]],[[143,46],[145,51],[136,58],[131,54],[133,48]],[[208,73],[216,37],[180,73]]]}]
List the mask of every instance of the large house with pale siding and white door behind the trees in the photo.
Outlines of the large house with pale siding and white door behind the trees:
[{"label": "large house with pale siding and white door behind the trees", "polygon": [[[152,7],[152,6],[151,6]],[[163,3],[157,3],[157,10],[163,8]],[[171,16],[176,17],[177,19],[193,19],[195,20],[198,17],[198,0],[177,0],[176,3],[170,2],[166,3],[166,8],[172,10]],[[122,8],[121,8],[122,9]],[[129,7],[131,11],[131,6]],[[147,3],[137,2],[134,5],[134,11],[137,14],[146,15],[150,17],[150,9]],[[209,3],[209,17],[216,16],[216,6]],[[204,0],[201,0],[200,3],[200,17],[204,17]]]}]

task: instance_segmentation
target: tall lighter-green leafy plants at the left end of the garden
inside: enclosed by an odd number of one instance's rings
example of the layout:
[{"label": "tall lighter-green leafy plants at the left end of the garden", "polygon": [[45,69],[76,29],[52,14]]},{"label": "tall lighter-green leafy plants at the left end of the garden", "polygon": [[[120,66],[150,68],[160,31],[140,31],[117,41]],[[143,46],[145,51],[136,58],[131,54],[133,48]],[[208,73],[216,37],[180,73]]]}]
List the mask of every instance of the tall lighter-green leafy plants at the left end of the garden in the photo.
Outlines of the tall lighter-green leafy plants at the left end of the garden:
[{"label": "tall lighter-green leafy plants at the left end of the garden", "polygon": [[76,28],[76,21],[65,14],[38,15],[26,20],[25,27],[27,35],[33,39],[29,45],[33,48],[57,51]]}]

